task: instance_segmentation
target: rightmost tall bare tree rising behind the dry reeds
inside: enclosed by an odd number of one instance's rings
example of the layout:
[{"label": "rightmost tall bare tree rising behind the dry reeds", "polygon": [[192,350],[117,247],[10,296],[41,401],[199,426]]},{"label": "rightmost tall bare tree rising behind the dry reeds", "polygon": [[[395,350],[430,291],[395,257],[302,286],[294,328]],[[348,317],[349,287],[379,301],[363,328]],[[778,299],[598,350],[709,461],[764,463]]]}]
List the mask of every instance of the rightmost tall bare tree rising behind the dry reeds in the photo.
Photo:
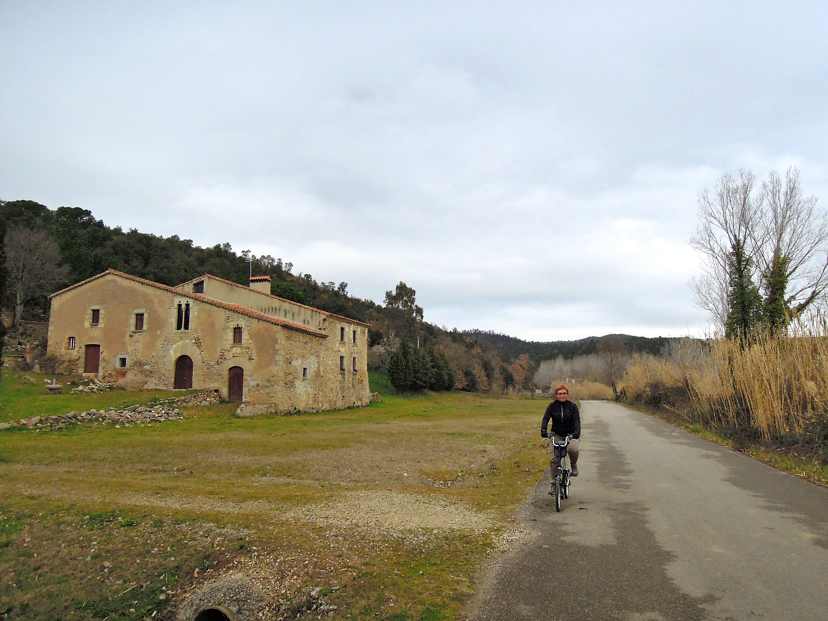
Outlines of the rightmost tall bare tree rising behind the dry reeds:
[{"label": "rightmost tall bare tree rising behind the dry reeds", "polygon": [[781,276],[784,306],[802,313],[828,286],[828,215],[816,207],[816,196],[802,195],[799,171],[788,168],[785,181],[771,171],[759,194],[762,217],[754,232],[760,282],[767,295],[774,267]]}]

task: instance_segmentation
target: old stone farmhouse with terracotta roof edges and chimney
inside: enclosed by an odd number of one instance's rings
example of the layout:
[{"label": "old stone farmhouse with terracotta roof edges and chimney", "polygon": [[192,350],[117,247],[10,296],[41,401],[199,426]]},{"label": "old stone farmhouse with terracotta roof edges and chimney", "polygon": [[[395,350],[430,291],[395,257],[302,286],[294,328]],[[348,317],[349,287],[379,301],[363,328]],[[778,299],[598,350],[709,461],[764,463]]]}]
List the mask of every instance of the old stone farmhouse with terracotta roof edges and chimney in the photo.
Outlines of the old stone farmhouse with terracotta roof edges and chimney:
[{"label": "old stone farmhouse with terracotta roof edges and chimney", "polygon": [[215,389],[240,413],[370,402],[368,324],[205,274],[166,286],[108,270],[51,296],[61,373],[132,389]]}]

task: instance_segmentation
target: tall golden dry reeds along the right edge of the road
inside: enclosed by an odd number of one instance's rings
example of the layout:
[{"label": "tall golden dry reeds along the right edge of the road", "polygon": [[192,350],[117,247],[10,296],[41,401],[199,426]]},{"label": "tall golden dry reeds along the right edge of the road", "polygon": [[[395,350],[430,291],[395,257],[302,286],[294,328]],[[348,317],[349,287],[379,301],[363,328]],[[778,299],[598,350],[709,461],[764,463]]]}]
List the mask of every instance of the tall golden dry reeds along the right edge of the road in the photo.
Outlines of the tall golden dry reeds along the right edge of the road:
[{"label": "tall golden dry reeds along the right edge of the road", "polygon": [[633,402],[670,407],[737,440],[828,456],[828,337],[824,323],[797,324],[739,343],[672,344],[662,357],[637,356],[621,383]]}]

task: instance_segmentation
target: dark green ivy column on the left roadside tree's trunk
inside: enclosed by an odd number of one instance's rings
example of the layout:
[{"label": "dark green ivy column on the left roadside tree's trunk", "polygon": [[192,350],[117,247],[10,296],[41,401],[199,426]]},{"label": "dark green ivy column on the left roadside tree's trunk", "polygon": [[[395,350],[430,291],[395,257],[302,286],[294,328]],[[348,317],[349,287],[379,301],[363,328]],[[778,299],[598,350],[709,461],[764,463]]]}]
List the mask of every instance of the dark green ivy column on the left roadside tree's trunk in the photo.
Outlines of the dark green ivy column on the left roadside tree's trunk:
[{"label": "dark green ivy column on the left roadside tree's trunk", "polygon": [[724,325],[729,339],[744,338],[762,319],[762,296],[753,283],[753,259],[737,241],[728,255],[728,315]]}]

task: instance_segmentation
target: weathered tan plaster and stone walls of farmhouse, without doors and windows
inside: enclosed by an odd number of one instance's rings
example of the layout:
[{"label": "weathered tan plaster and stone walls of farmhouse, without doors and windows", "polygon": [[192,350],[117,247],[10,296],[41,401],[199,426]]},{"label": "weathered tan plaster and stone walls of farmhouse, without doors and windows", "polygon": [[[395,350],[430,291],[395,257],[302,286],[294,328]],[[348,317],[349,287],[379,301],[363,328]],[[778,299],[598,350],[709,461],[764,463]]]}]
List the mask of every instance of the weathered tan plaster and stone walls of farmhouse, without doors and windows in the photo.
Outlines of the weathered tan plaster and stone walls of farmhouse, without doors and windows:
[{"label": "weathered tan plaster and stone walls of farmhouse, without doors and windows", "polygon": [[[176,330],[179,301],[190,303],[190,330]],[[97,326],[90,325],[93,308],[100,310]],[[135,312],[144,313],[142,331],[134,330]],[[237,325],[242,344],[233,344]],[[350,342],[353,329],[356,344]],[[309,335],[108,274],[52,298],[48,351],[60,359],[61,371],[80,373],[84,345],[99,344],[99,377],[135,389],[171,389],[176,359],[185,354],[193,360],[193,388],[219,389],[225,398],[229,369],[242,367],[244,401],[270,412],[367,404],[367,328],[348,325],[345,342],[339,341],[338,327],[330,332],[327,339]],[[66,349],[70,336],[76,339],[74,350]],[[121,356],[127,357],[127,368],[117,367]],[[345,357],[344,372],[339,356]]]}]

